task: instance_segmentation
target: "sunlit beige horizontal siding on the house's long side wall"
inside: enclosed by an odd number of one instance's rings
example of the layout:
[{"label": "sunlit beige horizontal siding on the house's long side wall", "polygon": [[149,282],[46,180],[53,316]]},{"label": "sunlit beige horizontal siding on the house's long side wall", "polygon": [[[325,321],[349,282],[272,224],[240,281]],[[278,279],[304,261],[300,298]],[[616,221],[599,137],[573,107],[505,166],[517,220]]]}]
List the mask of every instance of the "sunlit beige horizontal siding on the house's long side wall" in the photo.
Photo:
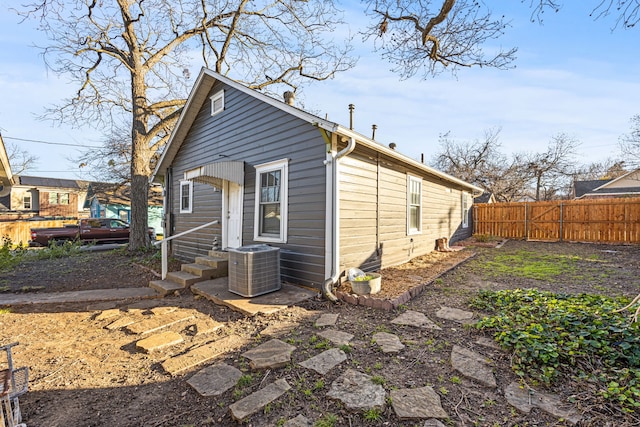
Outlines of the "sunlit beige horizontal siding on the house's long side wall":
[{"label": "sunlit beige horizontal siding on the house's long side wall", "polygon": [[[340,170],[341,268],[372,271],[401,264],[433,251],[440,237],[463,234],[460,188],[358,148]],[[422,177],[422,230],[412,235],[407,234],[407,174]]]}]

